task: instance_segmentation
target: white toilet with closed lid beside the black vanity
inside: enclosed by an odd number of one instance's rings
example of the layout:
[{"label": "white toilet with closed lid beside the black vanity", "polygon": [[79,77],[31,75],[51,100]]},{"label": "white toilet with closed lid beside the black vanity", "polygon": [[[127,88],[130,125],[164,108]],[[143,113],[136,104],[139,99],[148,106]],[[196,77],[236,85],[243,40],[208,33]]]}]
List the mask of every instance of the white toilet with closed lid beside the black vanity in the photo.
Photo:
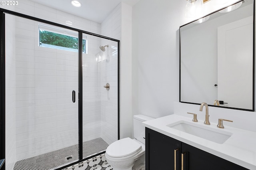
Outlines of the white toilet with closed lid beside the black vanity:
[{"label": "white toilet with closed lid beside the black vanity", "polygon": [[145,126],[142,122],[154,119],[145,115],[134,115],[135,139],[123,138],[113,142],[106,149],[106,160],[113,170],[145,169]]}]

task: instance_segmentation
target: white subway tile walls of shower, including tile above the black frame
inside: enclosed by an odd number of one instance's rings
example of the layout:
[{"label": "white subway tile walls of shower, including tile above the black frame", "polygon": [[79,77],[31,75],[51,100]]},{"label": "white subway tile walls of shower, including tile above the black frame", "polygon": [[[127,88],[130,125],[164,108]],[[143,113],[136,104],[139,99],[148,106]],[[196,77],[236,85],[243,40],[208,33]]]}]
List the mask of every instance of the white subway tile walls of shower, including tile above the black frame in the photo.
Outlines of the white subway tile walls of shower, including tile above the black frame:
[{"label": "white subway tile walls of shower, including tile above the black frame", "polygon": [[[70,20],[73,23],[71,27],[120,39],[120,5],[102,24],[29,0],[22,0],[11,10],[63,25]],[[10,165],[17,160],[78,143],[78,103],[72,103],[72,90],[78,92],[78,53],[38,47],[38,22],[15,18],[13,23],[8,22],[12,24],[12,30],[8,30],[12,36],[8,45],[11,56],[6,55],[6,66],[10,68],[9,72],[6,71],[6,77],[10,78],[6,87],[16,89],[9,91],[8,96],[12,99],[8,100],[10,108],[6,112],[6,120],[10,121],[6,122],[6,162]],[[117,140],[117,43],[86,36],[88,54],[83,54],[83,138],[86,141],[102,137],[110,144]],[[103,62],[99,64],[96,61],[99,46],[105,43],[110,45],[110,61],[104,65],[107,71],[102,69]],[[103,88],[107,81],[111,85],[108,92]]]}]

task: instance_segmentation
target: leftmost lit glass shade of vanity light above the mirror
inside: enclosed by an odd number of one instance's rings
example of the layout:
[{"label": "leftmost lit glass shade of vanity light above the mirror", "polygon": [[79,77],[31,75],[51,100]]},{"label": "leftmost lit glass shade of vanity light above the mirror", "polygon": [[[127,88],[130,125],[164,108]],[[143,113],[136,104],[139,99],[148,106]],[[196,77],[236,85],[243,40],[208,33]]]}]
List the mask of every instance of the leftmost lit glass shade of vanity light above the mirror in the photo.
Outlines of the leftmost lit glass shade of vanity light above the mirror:
[{"label": "leftmost lit glass shade of vanity light above the mirror", "polygon": [[185,17],[193,17],[202,12],[201,0],[187,0]]}]

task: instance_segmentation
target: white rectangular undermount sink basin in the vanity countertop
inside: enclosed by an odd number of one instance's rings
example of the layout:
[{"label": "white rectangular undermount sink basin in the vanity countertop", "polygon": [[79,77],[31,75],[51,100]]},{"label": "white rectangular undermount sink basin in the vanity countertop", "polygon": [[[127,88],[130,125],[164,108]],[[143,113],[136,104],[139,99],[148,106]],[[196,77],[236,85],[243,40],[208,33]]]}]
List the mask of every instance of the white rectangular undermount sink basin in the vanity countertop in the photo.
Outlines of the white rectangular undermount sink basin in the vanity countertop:
[{"label": "white rectangular undermount sink basin in the vanity countertop", "polygon": [[230,132],[206,127],[204,125],[189,123],[186,121],[179,121],[167,126],[219,144],[223,144],[226,140],[228,140],[228,138],[230,138],[230,136],[232,136],[232,133]]}]

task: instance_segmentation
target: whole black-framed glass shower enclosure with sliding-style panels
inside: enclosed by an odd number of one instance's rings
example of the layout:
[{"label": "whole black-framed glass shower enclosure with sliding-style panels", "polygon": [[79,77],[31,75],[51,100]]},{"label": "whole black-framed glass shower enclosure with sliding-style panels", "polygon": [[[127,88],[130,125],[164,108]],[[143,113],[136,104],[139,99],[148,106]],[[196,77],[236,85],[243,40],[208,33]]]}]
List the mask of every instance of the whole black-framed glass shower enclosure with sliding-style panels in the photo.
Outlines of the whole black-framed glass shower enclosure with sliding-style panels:
[{"label": "whole black-framed glass shower enclosure with sliding-style panels", "polygon": [[4,9],[0,17],[5,169],[60,170],[103,154],[119,139],[119,40]]}]

